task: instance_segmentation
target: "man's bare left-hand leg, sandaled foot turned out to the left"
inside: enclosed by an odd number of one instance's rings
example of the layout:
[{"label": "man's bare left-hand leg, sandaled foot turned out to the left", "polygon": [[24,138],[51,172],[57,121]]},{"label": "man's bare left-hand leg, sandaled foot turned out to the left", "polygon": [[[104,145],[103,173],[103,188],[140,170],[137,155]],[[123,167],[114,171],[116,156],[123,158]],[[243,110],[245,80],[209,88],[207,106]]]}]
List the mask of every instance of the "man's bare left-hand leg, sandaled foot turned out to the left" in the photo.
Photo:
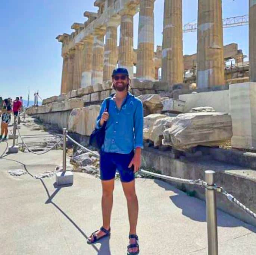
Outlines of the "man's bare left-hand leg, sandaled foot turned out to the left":
[{"label": "man's bare left-hand leg, sandaled foot turned out to the left", "polygon": [[[114,191],[115,179],[109,181],[102,181],[102,219],[103,227],[106,230],[110,228],[110,217],[113,206],[113,191]],[[106,235],[103,231],[96,232],[97,239]],[[89,241],[93,240],[93,236],[88,238]]]}]

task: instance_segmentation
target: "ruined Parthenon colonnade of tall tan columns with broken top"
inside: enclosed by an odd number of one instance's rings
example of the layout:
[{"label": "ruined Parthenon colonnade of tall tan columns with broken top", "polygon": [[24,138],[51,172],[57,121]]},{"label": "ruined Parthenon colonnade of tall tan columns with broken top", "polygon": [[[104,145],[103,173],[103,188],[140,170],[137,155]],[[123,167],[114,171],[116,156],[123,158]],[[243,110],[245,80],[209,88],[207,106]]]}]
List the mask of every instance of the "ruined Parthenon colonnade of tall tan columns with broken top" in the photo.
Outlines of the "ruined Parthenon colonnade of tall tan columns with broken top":
[{"label": "ruined Parthenon colonnade of tall tan columns with broken top", "polygon": [[[164,0],[163,44],[154,52],[155,0],[96,0],[97,13],[84,12],[88,20],[74,23],[71,35],[62,34],[61,93],[90,85],[102,84],[111,78],[112,70],[125,67],[131,78],[162,81],[170,88],[184,82],[186,71],[182,47],[182,0]],[[250,80],[256,81],[256,1],[249,0]],[[133,16],[139,12],[138,49],[133,48]],[[222,0],[198,1],[197,88],[225,85]],[[120,41],[117,47],[117,28]],[[105,42],[104,42],[105,36]],[[160,54],[159,54],[160,53]],[[233,54],[237,61],[241,51]],[[193,58],[193,55],[191,56]],[[133,67],[137,66],[134,74]]]}]

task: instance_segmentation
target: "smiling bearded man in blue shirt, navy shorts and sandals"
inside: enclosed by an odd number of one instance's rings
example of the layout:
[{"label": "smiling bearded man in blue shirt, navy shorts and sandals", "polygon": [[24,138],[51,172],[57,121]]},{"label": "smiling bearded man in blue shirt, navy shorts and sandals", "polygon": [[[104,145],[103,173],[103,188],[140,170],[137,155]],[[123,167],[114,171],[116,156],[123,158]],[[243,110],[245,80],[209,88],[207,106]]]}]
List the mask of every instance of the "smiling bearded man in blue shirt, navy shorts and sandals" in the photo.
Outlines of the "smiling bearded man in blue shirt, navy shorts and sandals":
[{"label": "smiling bearded man in blue shirt, navy shorts and sandals", "polygon": [[92,233],[87,243],[94,243],[110,235],[110,216],[117,169],[128,206],[130,229],[127,254],[136,255],[139,253],[136,233],[138,199],[135,192],[134,173],[141,165],[143,105],[140,99],[128,92],[129,81],[127,69],[117,68],[113,71],[112,82],[116,93],[110,96],[109,109],[106,109],[106,99],[103,101],[96,120],[96,128],[102,128],[104,122],[107,122],[105,140],[100,150],[103,225],[100,230]]}]

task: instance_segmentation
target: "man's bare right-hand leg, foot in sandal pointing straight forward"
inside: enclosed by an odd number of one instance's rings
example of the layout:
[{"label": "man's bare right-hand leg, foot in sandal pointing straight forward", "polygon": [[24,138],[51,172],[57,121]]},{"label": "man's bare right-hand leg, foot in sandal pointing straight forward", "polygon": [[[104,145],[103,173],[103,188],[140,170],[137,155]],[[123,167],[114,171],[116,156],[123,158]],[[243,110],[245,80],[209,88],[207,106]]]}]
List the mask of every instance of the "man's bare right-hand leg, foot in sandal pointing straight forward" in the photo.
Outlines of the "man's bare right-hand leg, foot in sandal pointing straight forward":
[{"label": "man's bare right-hand leg, foot in sandal pointing straight forward", "polygon": [[[135,191],[135,180],[131,182],[122,182],[125,197],[127,199],[128,216],[130,223],[129,235],[136,235],[138,221],[138,198]],[[129,240],[130,244],[136,243],[135,238]],[[138,248],[130,248],[129,252],[137,252]]]}]

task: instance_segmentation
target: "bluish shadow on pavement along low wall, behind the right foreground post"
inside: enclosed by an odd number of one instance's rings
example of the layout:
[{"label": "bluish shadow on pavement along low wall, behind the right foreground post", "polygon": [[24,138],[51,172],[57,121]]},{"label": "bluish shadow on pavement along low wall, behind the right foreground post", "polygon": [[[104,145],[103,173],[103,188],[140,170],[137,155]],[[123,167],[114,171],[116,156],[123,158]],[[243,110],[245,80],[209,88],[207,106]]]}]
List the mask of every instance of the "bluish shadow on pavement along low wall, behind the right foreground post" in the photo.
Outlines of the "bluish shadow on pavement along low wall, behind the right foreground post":
[{"label": "bluish shadow on pavement along low wall, behind the right foreground post", "polygon": [[[189,217],[191,220],[206,222],[205,201],[200,200],[199,198],[190,197],[186,195],[183,191],[173,187],[168,182],[164,182],[159,179],[155,179],[154,182],[160,187],[165,188],[165,190],[173,191],[176,193],[176,195],[170,196],[170,200],[178,208],[182,209],[183,215]],[[230,216],[219,209],[217,210],[217,220],[218,220],[218,226],[221,226],[221,227],[243,226],[246,229],[256,233],[255,227],[251,226],[250,224],[244,223],[243,221],[238,220],[233,216]]]}]

